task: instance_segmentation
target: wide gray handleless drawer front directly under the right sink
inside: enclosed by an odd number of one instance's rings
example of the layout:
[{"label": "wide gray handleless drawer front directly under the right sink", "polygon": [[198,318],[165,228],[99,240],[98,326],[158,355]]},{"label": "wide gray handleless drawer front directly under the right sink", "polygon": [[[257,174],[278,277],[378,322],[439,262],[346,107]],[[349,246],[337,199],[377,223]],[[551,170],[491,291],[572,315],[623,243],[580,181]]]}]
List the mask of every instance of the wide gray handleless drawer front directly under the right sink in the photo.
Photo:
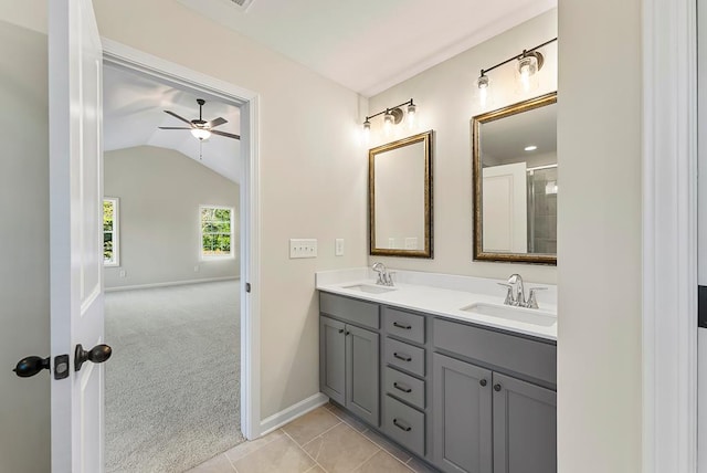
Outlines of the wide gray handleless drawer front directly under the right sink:
[{"label": "wide gray handleless drawer front directly under the right sink", "polygon": [[435,318],[434,346],[557,385],[557,347]]}]

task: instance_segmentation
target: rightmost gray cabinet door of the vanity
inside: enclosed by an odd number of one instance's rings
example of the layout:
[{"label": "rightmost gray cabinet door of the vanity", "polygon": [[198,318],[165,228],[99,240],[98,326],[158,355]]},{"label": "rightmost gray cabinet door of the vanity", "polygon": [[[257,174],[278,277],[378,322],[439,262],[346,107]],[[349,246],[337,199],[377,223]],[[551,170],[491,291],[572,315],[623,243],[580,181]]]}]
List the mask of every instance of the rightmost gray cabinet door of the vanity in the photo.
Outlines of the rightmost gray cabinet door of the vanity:
[{"label": "rightmost gray cabinet door of the vanity", "polygon": [[494,473],[557,472],[557,393],[494,372]]}]

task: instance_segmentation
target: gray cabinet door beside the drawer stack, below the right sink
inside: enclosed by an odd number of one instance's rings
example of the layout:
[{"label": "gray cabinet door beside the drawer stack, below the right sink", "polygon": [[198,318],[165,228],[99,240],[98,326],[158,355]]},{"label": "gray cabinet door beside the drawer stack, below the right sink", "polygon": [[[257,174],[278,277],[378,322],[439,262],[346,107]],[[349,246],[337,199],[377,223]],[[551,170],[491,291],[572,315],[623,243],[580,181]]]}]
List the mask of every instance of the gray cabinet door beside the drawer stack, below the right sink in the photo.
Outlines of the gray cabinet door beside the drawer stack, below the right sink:
[{"label": "gray cabinet door beside the drawer stack, below the right sink", "polygon": [[439,354],[432,362],[435,464],[492,473],[492,372]]}]

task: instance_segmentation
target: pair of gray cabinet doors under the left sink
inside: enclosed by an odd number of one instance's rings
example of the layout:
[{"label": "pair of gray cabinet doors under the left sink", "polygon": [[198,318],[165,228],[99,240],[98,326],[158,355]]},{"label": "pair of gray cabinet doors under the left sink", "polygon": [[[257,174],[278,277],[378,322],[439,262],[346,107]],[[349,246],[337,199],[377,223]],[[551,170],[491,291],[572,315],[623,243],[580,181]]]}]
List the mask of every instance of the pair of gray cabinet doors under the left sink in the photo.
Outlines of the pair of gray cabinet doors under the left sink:
[{"label": "pair of gray cabinet doors under the left sink", "polygon": [[329,398],[379,425],[379,335],[319,317],[319,385]]}]

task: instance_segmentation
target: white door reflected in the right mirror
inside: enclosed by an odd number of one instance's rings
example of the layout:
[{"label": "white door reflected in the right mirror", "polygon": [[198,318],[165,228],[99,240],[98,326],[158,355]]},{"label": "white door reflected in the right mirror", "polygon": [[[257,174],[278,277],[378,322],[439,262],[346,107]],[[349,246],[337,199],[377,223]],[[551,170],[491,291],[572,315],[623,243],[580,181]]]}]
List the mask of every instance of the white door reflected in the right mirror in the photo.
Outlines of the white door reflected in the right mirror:
[{"label": "white door reflected in the right mirror", "polygon": [[497,253],[527,253],[526,164],[487,167],[484,168],[483,176],[483,250]]}]

